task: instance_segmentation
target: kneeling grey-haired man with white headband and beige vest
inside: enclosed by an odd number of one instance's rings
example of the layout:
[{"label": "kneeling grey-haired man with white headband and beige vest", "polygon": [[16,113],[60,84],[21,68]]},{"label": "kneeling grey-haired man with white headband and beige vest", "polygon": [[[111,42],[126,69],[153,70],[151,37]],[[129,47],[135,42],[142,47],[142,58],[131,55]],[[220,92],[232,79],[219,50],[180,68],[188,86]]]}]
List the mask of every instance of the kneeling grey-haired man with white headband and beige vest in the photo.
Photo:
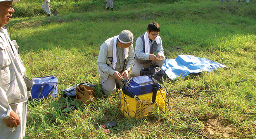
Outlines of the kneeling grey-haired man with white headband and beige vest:
[{"label": "kneeling grey-haired man with white headband and beige vest", "polygon": [[127,79],[134,62],[133,34],[123,30],[118,36],[107,39],[101,46],[97,68],[106,95],[116,93],[116,82]]}]

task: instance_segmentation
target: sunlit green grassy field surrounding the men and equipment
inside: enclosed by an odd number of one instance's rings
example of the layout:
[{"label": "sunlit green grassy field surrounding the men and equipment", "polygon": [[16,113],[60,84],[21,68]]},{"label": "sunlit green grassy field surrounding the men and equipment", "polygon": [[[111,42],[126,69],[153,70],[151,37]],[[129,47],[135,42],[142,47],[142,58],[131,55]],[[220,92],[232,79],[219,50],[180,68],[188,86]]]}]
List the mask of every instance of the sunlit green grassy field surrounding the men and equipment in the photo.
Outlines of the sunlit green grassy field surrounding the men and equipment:
[{"label": "sunlit green grassy field surrounding the men and equipment", "polygon": [[[115,0],[108,12],[103,0],[56,0],[50,5],[59,15],[49,18],[41,5],[21,0],[7,25],[28,77],[59,80],[57,98],[29,101],[26,139],[256,138],[255,1]],[[227,68],[166,80],[166,110],[143,119],[124,117],[116,94],[88,106],[62,97],[62,89],[86,81],[98,85],[101,97],[99,46],[124,29],[137,38],[153,21],[161,27],[166,58],[190,54]],[[66,105],[78,109],[62,114]],[[109,133],[96,130],[110,121],[117,126]]]}]

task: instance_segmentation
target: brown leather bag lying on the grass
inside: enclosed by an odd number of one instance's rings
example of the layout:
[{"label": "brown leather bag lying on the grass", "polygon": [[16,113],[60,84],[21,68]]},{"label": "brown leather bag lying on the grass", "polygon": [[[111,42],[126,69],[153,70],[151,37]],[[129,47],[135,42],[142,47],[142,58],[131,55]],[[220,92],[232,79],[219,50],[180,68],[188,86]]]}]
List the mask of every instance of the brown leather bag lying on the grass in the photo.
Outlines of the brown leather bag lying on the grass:
[{"label": "brown leather bag lying on the grass", "polygon": [[79,102],[83,102],[89,105],[92,102],[96,102],[96,89],[87,85],[76,86],[76,99]]}]

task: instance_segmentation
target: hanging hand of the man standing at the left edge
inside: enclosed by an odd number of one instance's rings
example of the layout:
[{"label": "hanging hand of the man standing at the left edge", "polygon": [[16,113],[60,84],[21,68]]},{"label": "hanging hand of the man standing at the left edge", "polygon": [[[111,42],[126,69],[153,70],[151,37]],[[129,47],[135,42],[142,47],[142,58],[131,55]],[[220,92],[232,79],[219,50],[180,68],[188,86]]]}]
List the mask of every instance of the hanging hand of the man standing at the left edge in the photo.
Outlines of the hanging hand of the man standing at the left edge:
[{"label": "hanging hand of the man standing at the left edge", "polygon": [[19,116],[12,110],[8,119],[3,119],[3,122],[7,127],[13,128],[21,124]]}]

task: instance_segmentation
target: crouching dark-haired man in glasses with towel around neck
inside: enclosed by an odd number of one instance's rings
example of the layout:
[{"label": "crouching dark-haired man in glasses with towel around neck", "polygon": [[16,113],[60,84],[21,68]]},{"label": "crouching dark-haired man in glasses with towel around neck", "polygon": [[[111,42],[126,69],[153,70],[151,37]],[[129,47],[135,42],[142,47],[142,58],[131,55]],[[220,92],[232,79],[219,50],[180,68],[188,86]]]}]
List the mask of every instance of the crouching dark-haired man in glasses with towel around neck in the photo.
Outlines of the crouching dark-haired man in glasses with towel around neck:
[{"label": "crouching dark-haired man in glasses with towel around neck", "polygon": [[[160,26],[157,22],[152,22],[148,25],[145,34],[136,39],[135,61],[132,68],[134,76],[140,76],[140,71],[150,65],[158,65],[162,68],[165,57],[159,32]],[[153,54],[154,52],[156,52],[156,56]]]}]

